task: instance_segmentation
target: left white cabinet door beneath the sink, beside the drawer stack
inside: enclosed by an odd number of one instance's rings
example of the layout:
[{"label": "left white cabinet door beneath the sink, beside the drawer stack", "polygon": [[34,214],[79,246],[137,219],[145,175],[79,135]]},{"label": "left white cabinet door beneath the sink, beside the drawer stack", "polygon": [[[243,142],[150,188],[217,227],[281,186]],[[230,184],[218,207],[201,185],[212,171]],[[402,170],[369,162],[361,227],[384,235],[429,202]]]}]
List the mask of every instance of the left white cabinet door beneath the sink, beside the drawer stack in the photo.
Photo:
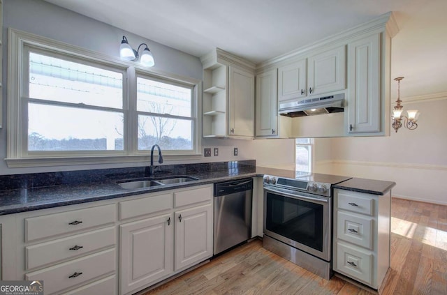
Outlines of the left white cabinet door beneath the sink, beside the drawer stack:
[{"label": "left white cabinet door beneath the sink, beside the drawer stack", "polygon": [[128,294],[173,272],[171,214],[120,225],[121,292]]}]

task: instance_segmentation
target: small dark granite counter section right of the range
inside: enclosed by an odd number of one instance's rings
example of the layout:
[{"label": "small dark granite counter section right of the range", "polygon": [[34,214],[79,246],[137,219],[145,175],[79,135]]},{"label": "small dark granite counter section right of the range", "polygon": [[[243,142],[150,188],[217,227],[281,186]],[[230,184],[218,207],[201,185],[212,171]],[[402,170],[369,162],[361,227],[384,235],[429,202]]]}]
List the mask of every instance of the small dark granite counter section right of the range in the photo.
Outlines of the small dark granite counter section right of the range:
[{"label": "small dark granite counter section right of the range", "polygon": [[341,188],[342,190],[351,190],[353,192],[365,192],[372,195],[385,195],[395,185],[396,183],[392,181],[353,178],[336,184],[333,188]]}]

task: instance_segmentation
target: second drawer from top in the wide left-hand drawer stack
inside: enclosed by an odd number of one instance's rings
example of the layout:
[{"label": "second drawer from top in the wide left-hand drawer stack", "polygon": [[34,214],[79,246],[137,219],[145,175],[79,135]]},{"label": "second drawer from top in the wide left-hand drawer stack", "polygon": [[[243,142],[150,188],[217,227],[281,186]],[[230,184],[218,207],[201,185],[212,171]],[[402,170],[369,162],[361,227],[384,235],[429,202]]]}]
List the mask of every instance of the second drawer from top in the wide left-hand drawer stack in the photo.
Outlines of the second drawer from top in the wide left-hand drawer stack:
[{"label": "second drawer from top in the wide left-hand drawer stack", "polygon": [[115,227],[108,227],[86,234],[28,246],[25,248],[27,269],[52,264],[115,245],[115,232]]}]

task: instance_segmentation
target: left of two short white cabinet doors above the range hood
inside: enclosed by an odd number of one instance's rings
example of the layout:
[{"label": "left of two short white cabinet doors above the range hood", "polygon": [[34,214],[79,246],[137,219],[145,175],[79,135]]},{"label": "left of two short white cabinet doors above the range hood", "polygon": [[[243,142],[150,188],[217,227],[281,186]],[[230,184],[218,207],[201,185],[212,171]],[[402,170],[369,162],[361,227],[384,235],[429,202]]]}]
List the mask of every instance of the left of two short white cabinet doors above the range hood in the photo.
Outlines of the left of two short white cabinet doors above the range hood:
[{"label": "left of two short white cabinet doors above the range hood", "polygon": [[278,100],[307,96],[306,59],[278,68]]}]

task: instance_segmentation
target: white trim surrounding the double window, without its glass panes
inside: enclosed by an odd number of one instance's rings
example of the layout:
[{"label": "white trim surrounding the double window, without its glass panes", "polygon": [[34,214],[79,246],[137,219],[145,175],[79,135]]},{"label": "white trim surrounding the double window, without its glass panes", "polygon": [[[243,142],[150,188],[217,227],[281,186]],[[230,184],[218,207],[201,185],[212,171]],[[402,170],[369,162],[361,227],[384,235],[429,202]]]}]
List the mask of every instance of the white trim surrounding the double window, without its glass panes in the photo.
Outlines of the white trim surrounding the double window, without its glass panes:
[{"label": "white trim surrounding the double window, without its glass panes", "polygon": [[[196,112],[196,128],[193,134],[193,144],[195,150],[191,153],[176,153],[175,151],[163,151],[163,157],[166,162],[179,161],[179,160],[195,160],[201,157],[200,153],[200,134],[201,134],[201,116],[200,114],[200,101],[201,101],[201,90],[202,82],[200,80],[193,79],[191,77],[183,77],[181,75],[175,75],[168,73],[163,70],[157,69],[147,69],[137,64],[126,62],[118,59],[115,56],[109,56],[106,54],[101,54],[91,50],[86,50],[85,48],[78,47],[75,45],[68,45],[66,43],[59,42],[57,40],[52,40],[42,36],[37,36],[24,31],[19,31],[16,29],[8,29],[8,113],[7,113],[7,153],[6,153],[6,163],[8,167],[48,167],[48,166],[58,166],[58,165],[94,165],[94,164],[113,164],[113,163],[131,163],[131,162],[147,162],[148,154],[135,153],[135,151],[128,147],[127,151],[121,154],[115,154],[112,156],[98,154],[97,156],[73,156],[66,154],[64,156],[57,157],[45,157],[45,158],[23,158],[20,149],[22,149],[22,140],[20,139],[20,134],[17,130],[21,127],[21,121],[23,118],[21,116],[22,107],[20,103],[22,100],[17,98],[21,95],[22,87],[22,68],[23,68],[23,50],[24,45],[30,45],[42,47],[47,50],[54,52],[61,52],[70,55],[79,56],[80,58],[87,59],[89,61],[94,61],[96,63],[103,63],[105,66],[112,66],[114,68],[122,68],[126,70],[128,81],[131,77],[135,77],[135,71],[138,73],[144,73],[145,75],[154,75],[161,79],[170,81],[179,81],[182,84],[194,85],[195,94],[197,97],[196,105],[194,111]],[[130,97],[131,91],[129,87],[129,82],[124,83],[127,89],[124,89],[125,97]],[[136,89],[135,89],[136,91]],[[135,93],[136,94],[136,93]],[[126,104],[126,98],[124,98],[124,104]],[[124,112],[129,109],[128,106],[124,105]],[[127,128],[128,132],[131,131],[130,126],[124,126]],[[133,133],[129,132],[129,142],[132,142],[131,138]]]}]

